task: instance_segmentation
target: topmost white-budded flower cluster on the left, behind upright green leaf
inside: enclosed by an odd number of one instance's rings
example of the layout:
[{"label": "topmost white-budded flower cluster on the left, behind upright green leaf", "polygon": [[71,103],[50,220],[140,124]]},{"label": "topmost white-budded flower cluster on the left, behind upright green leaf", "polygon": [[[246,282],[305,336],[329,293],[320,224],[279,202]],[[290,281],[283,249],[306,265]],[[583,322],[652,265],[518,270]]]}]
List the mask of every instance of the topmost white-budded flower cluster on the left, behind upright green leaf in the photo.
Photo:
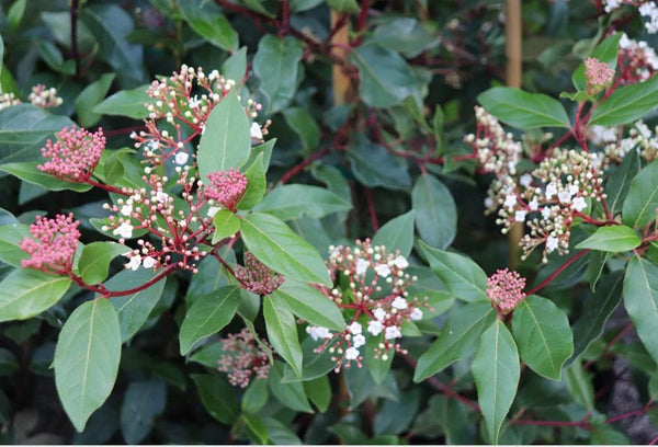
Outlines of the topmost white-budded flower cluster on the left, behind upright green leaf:
[{"label": "topmost white-budded flower cluster on the left, behind upright green leaf", "polygon": [[[203,134],[213,107],[236,88],[236,81],[226,79],[217,70],[206,74],[201,67],[194,69],[182,65],[180,71],[169,78],[155,80],[147,89],[152,99],[145,104],[149,112],[145,119],[146,130],[133,134],[136,148],[144,148],[145,157],[155,165],[170,158],[179,165],[189,160],[186,145]],[[250,119],[258,116],[261,104],[249,99],[245,113]],[[158,121],[164,119],[173,131],[160,130]],[[265,128],[258,123],[251,127],[252,137],[262,140]]]}]

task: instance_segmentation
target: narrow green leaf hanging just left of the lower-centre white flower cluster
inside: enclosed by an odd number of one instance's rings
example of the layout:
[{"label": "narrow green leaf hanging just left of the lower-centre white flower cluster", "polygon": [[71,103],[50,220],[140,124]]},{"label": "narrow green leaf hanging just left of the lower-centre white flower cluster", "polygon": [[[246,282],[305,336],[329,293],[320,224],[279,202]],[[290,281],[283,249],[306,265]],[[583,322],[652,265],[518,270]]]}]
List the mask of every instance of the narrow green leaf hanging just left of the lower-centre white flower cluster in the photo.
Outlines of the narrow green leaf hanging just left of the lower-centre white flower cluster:
[{"label": "narrow green leaf hanging just left of the lower-centre white flower cluster", "polygon": [[274,351],[292,366],[295,375],[302,377],[302,346],[297,339],[297,322],[287,306],[270,297],[263,300],[263,317],[268,329],[268,340]]}]

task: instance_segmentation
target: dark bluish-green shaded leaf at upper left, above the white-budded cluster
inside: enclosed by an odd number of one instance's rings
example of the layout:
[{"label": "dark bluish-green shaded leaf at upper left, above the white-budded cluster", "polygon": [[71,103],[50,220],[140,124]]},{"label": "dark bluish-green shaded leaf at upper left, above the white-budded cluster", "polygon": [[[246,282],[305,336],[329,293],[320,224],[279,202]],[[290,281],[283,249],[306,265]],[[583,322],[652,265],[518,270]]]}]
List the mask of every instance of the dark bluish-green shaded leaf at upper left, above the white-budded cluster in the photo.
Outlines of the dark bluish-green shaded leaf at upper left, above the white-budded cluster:
[{"label": "dark bluish-green shaded leaf at upper left, above the white-budded cluster", "polygon": [[115,70],[118,82],[124,87],[143,83],[143,47],[126,39],[135,28],[131,15],[118,4],[109,3],[82,8],[80,19],[95,37],[98,54]]}]

